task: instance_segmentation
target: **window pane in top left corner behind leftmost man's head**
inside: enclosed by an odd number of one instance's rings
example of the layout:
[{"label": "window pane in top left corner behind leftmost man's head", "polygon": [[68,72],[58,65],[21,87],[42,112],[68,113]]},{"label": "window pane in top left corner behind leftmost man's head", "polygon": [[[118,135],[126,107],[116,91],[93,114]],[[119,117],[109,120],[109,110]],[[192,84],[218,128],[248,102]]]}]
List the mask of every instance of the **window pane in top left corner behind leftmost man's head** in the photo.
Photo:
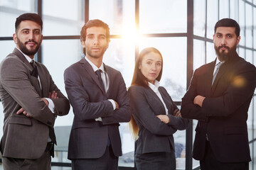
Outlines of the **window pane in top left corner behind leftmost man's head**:
[{"label": "window pane in top left corner behind leftmost man's head", "polygon": [[0,1],[0,36],[12,37],[15,33],[15,21],[22,13],[36,12],[35,0]]}]

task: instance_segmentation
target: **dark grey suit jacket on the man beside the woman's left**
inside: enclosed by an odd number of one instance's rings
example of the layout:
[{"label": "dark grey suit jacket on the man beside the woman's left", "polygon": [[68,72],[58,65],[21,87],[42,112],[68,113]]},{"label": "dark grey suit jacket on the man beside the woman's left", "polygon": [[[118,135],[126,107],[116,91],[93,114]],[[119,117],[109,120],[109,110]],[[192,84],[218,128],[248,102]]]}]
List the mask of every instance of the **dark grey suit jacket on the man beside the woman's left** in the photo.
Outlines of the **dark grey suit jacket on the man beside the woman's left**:
[{"label": "dark grey suit jacket on the man beside the woman's left", "polygon": [[[65,89],[75,114],[68,159],[102,157],[107,147],[107,136],[110,136],[114,154],[122,155],[118,127],[119,123],[128,122],[131,118],[129,98],[121,73],[107,65],[104,67],[110,81],[107,94],[85,58],[65,70]],[[119,109],[114,111],[107,99],[117,101]],[[99,117],[102,122],[95,121]]]}]

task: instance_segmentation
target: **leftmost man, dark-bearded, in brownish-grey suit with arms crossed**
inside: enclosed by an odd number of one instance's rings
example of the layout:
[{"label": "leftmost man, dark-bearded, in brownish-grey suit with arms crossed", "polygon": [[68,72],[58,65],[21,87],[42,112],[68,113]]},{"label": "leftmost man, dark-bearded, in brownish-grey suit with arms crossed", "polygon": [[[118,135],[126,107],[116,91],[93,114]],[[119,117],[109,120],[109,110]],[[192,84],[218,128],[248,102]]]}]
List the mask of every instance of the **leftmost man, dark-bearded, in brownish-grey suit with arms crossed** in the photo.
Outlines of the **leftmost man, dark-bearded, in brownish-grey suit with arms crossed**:
[{"label": "leftmost man, dark-bearded, in brownish-grey suit with arms crossed", "polygon": [[4,106],[2,161],[5,170],[48,170],[56,144],[55,118],[67,115],[70,105],[48,69],[34,61],[43,40],[41,17],[24,13],[16,18],[15,28],[16,48],[0,64],[0,97]]}]

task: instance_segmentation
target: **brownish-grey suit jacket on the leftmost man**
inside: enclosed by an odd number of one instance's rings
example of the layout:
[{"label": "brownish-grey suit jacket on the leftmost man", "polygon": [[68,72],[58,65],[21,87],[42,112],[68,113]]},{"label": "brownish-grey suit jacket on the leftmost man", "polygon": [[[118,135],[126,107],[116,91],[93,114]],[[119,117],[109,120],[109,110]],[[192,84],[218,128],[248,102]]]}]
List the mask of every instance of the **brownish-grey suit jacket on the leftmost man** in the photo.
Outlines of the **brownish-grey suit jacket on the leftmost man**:
[{"label": "brownish-grey suit jacket on the leftmost man", "polygon": [[[37,77],[31,76],[32,67],[22,53],[14,49],[0,64],[0,96],[4,106],[4,135],[1,153],[4,157],[38,159],[46,150],[49,127],[53,128],[56,115],[67,115],[68,99],[54,84],[46,67],[36,62],[42,90]],[[53,114],[41,100],[56,91],[58,99]],[[17,115],[20,108],[32,115]]]}]

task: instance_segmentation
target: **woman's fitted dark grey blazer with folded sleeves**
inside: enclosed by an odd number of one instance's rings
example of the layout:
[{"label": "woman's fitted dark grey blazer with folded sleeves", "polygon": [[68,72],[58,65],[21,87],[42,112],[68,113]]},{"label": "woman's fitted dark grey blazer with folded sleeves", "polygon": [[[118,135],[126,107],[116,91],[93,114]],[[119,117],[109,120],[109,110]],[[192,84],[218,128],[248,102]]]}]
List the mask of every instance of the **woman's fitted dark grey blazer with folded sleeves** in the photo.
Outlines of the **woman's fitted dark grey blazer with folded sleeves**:
[{"label": "woman's fitted dark grey blazer with folded sleeves", "polygon": [[177,106],[166,89],[160,86],[159,92],[168,108],[169,124],[161,122],[156,117],[156,115],[166,115],[166,110],[152,89],[143,86],[130,86],[128,89],[132,115],[139,126],[139,138],[136,141],[137,154],[174,152],[174,132],[188,127],[187,119],[173,115]]}]

